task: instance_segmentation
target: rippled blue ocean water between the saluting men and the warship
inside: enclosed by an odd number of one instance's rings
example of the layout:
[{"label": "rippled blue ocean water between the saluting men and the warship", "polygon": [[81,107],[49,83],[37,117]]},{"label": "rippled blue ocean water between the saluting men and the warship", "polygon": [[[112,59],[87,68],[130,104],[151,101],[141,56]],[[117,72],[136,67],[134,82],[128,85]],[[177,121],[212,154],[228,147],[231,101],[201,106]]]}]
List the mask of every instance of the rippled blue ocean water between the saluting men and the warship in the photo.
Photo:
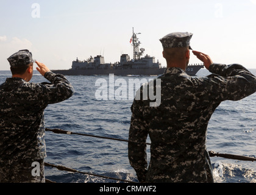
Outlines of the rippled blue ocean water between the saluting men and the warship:
[{"label": "rippled blue ocean water between the saluting men and the warship", "polygon": [[[251,69],[256,74],[256,69]],[[197,76],[210,74],[201,69]],[[0,83],[10,77],[10,71],[0,71]],[[128,139],[130,106],[136,88],[120,97],[118,88],[129,87],[129,79],[154,79],[155,76],[115,76],[113,87],[109,76],[66,76],[74,87],[74,95],[58,104],[51,104],[44,111],[45,127],[63,129],[75,133],[87,133],[101,137]],[[96,82],[105,79],[102,88],[112,88],[108,99],[98,100],[99,86]],[[119,80],[118,80],[119,79]],[[124,82],[124,80],[126,82]],[[46,82],[35,71],[31,82]],[[122,84],[118,85],[118,82]],[[109,97],[114,97],[112,100]],[[134,96],[133,96],[134,97]],[[121,99],[123,98],[123,99]],[[135,171],[127,157],[127,142],[106,140],[82,135],[63,135],[46,132],[45,161],[77,171],[138,182]],[[241,101],[224,101],[216,108],[208,124],[207,149],[226,154],[256,157],[256,93]],[[150,140],[148,139],[148,142]],[[148,161],[150,157],[149,147]],[[256,161],[232,160],[211,157],[213,174],[217,183],[256,183]],[[116,183],[119,180],[105,179],[83,173],[59,171],[45,167],[46,179],[58,183]]]}]

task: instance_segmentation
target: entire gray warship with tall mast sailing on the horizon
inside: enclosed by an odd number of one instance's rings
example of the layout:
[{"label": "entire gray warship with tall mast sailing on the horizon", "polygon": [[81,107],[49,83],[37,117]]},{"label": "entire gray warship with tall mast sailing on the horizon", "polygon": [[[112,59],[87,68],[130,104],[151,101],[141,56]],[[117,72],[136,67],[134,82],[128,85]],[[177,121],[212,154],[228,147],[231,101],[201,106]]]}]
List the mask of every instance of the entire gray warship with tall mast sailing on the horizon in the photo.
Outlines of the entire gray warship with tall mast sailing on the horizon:
[{"label": "entire gray warship with tall mast sailing on the horizon", "polygon": [[[166,68],[162,68],[160,62],[155,62],[155,57],[146,54],[141,57],[145,51],[140,48],[141,42],[132,29],[132,37],[130,43],[133,46],[133,59],[130,59],[128,54],[122,54],[120,62],[105,63],[104,56],[97,55],[90,57],[87,60],[80,61],[76,59],[72,62],[71,69],[52,70],[54,73],[64,74],[68,76],[85,75],[85,76],[98,76],[115,74],[116,76],[130,76],[130,75],[160,75],[165,72]],[[139,49],[140,48],[140,49]],[[195,76],[199,69],[204,68],[202,64],[188,65],[186,73],[190,76]]]}]

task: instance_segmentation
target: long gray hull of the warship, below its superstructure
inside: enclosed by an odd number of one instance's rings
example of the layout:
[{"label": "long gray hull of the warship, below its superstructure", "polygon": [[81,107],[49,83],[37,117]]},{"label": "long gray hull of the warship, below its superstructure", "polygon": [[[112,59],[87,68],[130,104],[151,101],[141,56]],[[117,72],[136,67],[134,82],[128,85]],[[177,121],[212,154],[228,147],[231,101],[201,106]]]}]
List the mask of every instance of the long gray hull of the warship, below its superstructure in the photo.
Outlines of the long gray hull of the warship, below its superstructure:
[{"label": "long gray hull of the warship, below its superstructure", "polygon": [[[190,76],[195,76],[199,69],[204,68],[204,65],[191,65],[186,69],[186,73]],[[63,74],[67,76],[95,76],[95,75],[108,75],[115,74],[116,76],[129,76],[129,75],[160,75],[165,72],[166,68],[151,68],[151,69],[59,69],[52,70],[53,73]]]}]

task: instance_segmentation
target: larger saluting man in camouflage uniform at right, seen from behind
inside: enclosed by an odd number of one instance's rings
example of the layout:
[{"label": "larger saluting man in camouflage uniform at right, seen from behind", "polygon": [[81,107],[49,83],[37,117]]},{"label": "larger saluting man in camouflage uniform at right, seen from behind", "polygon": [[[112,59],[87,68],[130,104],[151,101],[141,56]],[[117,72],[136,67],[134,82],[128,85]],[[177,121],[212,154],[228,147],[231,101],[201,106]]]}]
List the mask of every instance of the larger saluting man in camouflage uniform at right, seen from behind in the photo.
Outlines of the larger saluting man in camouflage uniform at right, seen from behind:
[{"label": "larger saluting man in camouflage uniform at right, seen from behind", "polygon": [[[237,101],[256,91],[256,77],[246,68],[213,63],[197,51],[193,54],[213,74],[188,76],[192,35],[178,32],[160,39],[167,62],[165,73],[158,77],[161,104],[151,107],[149,99],[133,101],[128,155],[140,182],[214,182],[205,147],[208,121],[222,101]],[[142,95],[143,87],[137,93]]]}]

